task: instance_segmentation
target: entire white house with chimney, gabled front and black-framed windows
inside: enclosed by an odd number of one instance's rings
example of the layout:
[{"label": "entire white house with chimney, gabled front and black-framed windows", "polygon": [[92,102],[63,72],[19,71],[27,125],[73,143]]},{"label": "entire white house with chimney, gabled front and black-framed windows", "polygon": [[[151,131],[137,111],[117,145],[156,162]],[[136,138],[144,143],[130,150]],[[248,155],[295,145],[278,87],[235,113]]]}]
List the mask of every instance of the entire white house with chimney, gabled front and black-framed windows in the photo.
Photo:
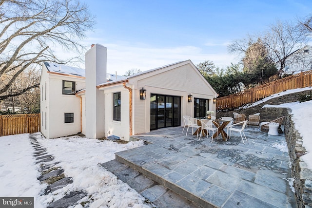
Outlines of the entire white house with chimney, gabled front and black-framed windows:
[{"label": "entire white house with chimney, gabled front and black-framed windows", "polygon": [[116,137],[183,126],[183,115],[215,111],[215,90],[190,60],[132,76],[109,78],[106,47],[85,55],[85,70],[45,63],[40,79],[41,132],[55,138],[82,132]]}]

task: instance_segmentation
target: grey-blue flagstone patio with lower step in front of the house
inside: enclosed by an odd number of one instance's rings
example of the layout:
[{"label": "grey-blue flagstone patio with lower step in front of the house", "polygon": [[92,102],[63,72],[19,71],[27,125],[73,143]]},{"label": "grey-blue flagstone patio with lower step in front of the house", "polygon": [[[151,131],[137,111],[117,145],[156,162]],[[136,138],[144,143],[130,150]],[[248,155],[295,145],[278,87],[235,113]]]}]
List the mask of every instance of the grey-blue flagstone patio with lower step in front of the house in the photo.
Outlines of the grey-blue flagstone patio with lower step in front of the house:
[{"label": "grey-blue flagstone patio with lower step in front of the house", "polygon": [[[122,167],[117,168],[115,160],[102,165],[130,186],[134,181],[141,184],[138,192],[159,207],[174,204],[162,195],[166,190],[186,198],[182,207],[297,207],[289,185],[289,155],[274,147],[286,145],[284,134],[272,136],[246,127],[245,144],[238,132],[228,141],[220,136],[211,143],[211,138],[197,140],[191,131],[185,136],[182,129],[134,135],[133,140],[148,145],[117,152]],[[148,185],[143,186],[144,181]]]}]

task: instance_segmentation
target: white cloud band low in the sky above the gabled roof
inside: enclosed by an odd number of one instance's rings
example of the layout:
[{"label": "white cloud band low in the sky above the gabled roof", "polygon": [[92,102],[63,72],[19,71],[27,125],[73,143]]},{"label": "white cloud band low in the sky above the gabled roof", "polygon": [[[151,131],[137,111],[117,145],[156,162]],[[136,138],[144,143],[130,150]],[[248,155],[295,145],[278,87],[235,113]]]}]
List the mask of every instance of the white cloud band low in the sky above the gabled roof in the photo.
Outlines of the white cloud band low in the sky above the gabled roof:
[{"label": "white cloud band low in the sky above the gabled roof", "polygon": [[225,68],[231,62],[237,63],[234,55],[227,53],[205,53],[199,47],[180,46],[168,48],[153,48],[127,44],[105,44],[107,47],[107,71],[110,73],[124,74],[130,69],[141,71],[161,67],[167,64],[190,59],[195,65],[205,60],[210,60],[216,66]]}]

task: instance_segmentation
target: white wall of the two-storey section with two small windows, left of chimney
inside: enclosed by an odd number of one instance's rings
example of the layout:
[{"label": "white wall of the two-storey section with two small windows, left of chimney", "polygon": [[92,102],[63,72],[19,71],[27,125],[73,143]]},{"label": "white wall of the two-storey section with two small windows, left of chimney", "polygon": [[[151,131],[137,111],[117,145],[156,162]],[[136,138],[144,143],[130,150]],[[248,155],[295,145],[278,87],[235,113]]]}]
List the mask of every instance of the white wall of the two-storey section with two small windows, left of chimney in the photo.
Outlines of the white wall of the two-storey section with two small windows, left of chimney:
[{"label": "white wall of the two-storey section with two small windows, left of chimney", "polygon": [[[74,81],[76,90],[85,88],[84,77],[51,74],[47,72],[45,66],[42,67],[40,80],[40,111],[43,114],[43,116],[41,115],[41,132],[46,138],[81,132],[80,98],[76,95],[62,94],[63,80]],[[74,113],[74,122],[65,123],[64,113]]]}]

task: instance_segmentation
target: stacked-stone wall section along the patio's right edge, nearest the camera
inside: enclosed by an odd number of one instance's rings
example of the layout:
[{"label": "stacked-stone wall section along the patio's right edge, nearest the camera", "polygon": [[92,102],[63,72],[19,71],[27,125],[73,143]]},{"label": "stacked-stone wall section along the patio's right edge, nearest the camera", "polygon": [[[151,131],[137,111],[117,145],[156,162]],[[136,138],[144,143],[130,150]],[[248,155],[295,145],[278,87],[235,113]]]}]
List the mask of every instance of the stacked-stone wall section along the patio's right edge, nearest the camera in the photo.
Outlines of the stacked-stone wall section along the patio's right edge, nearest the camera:
[{"label": "stacked-stone wall section along the patio's right edge, nearest the camera", "polygon": [[302,146],[302,137],[295,129],[291,110],[285,116],[285,138],[292,165],[292,177],[295,196],[299,208],[312,208],[312,170],[300,158],[307,151]]}]

